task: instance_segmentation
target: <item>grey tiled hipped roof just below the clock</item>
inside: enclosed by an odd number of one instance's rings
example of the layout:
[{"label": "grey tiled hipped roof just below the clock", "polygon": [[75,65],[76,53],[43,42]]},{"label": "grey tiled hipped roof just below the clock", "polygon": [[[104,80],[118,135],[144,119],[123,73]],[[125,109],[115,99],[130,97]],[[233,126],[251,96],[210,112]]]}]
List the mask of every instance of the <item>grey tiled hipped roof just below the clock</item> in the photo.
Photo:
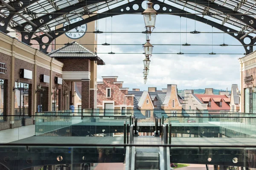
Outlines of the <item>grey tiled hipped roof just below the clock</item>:
[{"label": "grey tiled hipped roof just below the clock", "polygon": [[95,55],[92,51],[80,45],[78,42],[73,41],[65,44],[63,47],[58,48],[48,54],[54,58],[84,58],[92,61],[98,61],[98,65],[105,65],[102,59]]}]

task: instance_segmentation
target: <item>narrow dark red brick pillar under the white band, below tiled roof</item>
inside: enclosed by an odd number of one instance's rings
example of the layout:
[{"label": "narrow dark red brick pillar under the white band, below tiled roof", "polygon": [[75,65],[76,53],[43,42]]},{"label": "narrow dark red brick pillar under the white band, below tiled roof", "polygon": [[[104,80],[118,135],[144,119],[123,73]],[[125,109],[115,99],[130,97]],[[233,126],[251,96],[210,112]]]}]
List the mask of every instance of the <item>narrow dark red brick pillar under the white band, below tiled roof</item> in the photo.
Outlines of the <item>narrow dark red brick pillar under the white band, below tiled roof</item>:
[{"label": "narrow dark red brick pillar under the white band, below tiled roof", "polygon": [[90,108],[90,81],[82,81],[82,109]]}]

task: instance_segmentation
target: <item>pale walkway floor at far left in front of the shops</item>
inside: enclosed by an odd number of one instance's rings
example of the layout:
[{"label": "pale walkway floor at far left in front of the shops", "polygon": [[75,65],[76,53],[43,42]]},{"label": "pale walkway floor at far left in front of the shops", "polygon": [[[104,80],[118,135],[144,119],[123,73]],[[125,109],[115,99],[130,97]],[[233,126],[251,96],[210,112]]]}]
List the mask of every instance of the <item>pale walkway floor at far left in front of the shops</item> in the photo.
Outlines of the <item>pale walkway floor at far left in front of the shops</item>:
[{"label": "pale walkway floor at far left in front of the shops", "polygon": [[9,143],[35,135],[35,125],[0,130],[0,143]]}]

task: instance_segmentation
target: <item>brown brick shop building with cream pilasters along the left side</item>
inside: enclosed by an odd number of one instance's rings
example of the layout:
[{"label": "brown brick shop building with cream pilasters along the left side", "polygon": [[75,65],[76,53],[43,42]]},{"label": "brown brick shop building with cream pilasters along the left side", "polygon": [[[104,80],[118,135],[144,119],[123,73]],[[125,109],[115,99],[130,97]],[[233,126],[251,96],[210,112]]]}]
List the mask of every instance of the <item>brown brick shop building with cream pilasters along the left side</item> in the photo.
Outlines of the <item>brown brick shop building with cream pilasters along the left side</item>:
[{"label": "brown brick shop building with cream pilasters along the left side", "polygon": [[99,57],[55,59],[3,33],[0,44],[0,130],[35,124],[38,111],[69,109],[76,81],[82,108],[95,107]]}]

